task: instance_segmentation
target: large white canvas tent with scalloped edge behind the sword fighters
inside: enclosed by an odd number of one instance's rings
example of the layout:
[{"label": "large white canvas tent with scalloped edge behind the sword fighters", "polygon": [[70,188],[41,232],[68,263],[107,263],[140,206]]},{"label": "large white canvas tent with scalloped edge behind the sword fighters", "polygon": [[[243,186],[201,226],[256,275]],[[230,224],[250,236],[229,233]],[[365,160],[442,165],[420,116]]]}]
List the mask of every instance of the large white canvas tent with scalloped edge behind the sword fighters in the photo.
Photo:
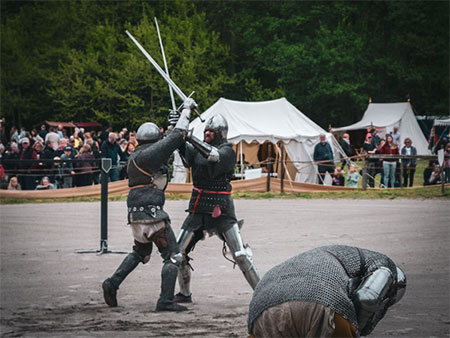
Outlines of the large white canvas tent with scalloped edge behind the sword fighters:
[{"label": "large white canvas tent with scalloped edge behind the sword fighters", "polygon": [[[228,122],[228,140],[235,145],[237,161],[240,153],[245,160],[257,162],[260,145],[270,142],[275,145],[278,158],[285,149],[290,161],[288,172],[292,180],[316,183],[316,168],[312,161],[314,146],[319,142],[319,135],[325,134],[332,145],[335,159],[343,154],[334,137],[311,121],[285,98],[262,102],[242,102],[220,98],[201,116],[207,121],[215,114],[222,114]],[[190,124],[194,136],[203,139],[205,123],[196,118]],[[255,160],[256,159],[256,160]],[[303,163],[302,163],[303,162]],[[180,168],[179,158],[176,167]],[[282,164],[278,162],[278,170]],[[174,182],[182,182],[182,170],[176,170]]]}]

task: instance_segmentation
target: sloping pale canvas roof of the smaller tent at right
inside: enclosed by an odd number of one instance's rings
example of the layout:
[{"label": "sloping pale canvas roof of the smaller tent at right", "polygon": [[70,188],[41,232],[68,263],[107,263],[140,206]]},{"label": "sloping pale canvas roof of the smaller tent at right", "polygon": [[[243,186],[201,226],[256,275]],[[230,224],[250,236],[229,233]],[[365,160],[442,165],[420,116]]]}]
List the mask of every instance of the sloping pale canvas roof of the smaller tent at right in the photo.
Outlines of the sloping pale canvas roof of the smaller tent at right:
[{"label": "sloping pale canvas roof of the smaller tent at right", "polygon": [[340,130],[366,129],[371,126],[387,127],[398,123],[405,113],[412,108],[409,102],[400,103],[369,103],[361,121],[346,127],[334,128]]}]

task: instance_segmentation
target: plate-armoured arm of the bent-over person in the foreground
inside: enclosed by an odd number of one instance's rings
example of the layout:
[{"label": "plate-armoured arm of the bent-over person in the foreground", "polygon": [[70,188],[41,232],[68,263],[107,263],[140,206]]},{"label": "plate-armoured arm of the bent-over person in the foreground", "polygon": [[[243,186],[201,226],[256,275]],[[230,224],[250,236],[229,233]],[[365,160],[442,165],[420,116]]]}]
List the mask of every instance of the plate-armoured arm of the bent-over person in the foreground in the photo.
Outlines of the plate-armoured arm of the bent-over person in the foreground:
[{"label": "plate-armoured arm of the bent-over person in the foreground", "polygon": [[353,303],[358,317],[361,335],[368,335],[392,305],[388,293],[394,276],[386,267],[380,267],[363,280],[355,291]]}]

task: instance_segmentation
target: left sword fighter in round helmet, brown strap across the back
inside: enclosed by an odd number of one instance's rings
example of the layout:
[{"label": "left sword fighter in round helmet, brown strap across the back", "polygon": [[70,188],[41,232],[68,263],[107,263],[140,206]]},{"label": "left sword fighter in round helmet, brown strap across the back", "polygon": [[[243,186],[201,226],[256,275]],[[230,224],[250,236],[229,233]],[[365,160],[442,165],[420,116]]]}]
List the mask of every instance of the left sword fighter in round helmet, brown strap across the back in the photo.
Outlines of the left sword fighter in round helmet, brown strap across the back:
[{"label": "left sword fighter in round helmet, brown strap across the back", "polygon": [[187,310],[185,306],[174,302],[182,255],[169,215],[164,211],[164,191],[168,183],[167,160],[184,142],[191,109],[195,105],[192,99],[184,102],[175,128],[164,139],[160,128],[151,122],[144,123],[137,131],[138,146],[131,153],[127,166],[130,187],[127,199],[128,223],[133,233],[134,246],[114,274],[103,282],[103,296],[109,306],[117,306],[117,290],[123,280],[139,263],[145,264],[150,260],[154,243],[163,259],[161,294],[156,311]]}]

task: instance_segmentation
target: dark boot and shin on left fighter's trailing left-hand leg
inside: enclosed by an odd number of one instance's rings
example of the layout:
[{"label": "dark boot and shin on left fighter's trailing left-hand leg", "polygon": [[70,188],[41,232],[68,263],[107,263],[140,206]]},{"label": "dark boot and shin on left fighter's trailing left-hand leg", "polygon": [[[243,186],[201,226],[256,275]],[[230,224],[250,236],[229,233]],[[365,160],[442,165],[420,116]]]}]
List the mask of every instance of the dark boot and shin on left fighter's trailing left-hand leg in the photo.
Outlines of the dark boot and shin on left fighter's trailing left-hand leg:
[{"label": "dark boot and shin on left fighter's trailing left-hand leg", "polygon": [[136,266],[141,262],[139,255],[136,252],[129,253],[127,257],[117,268],[116,272],[110,277],[105,279],[102,284],[103,298],[105,303],[111,307],[117,306],[117,290],[123,280],[133,271]]}]

